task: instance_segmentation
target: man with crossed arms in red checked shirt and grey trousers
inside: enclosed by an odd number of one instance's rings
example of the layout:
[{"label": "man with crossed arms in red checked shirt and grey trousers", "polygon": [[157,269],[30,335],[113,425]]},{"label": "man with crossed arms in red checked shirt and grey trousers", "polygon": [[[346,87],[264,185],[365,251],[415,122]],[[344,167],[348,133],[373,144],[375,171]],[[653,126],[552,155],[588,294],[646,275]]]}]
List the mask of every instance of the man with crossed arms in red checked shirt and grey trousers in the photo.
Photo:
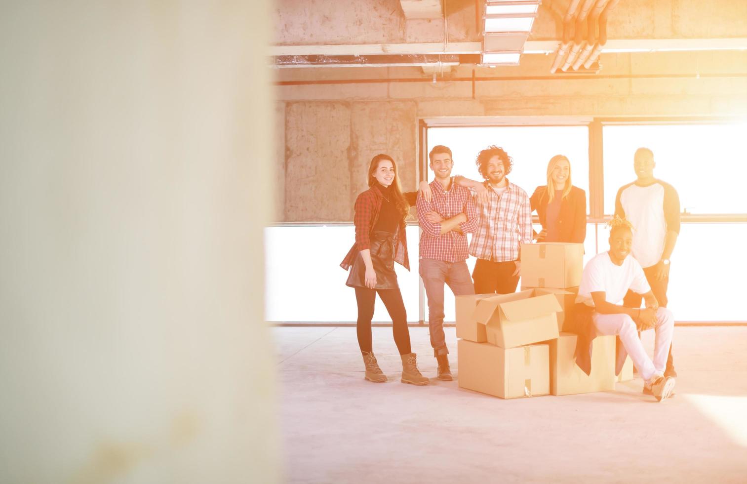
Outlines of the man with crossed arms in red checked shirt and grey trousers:
[{"label": "man with crossed arms in red checked shirt and grey trousers", "polygon": [[428,326],[433,355],[438,361],[438,379],[451,380],[444,336],[444,284],[456,296],[474,294],[465,262],[468,257],[467,233],[474,232],[477,209],[465,187],[451,179],[451,150],[434,146],[428,154],[435,179],[430,182],[430,199],[418,196],[421,226],[420,275],[428,297]]}]

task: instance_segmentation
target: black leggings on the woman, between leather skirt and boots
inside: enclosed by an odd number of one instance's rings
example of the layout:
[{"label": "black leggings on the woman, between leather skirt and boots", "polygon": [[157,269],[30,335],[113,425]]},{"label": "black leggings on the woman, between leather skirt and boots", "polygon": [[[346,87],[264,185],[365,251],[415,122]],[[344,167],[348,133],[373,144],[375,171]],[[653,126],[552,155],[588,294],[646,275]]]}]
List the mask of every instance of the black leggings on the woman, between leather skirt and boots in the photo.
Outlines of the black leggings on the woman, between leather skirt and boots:
[{"label": "black leggings on the woman, between leather skirt and boots", "polygon": [[376,293],[386,306],[391,317],[394,331],[394,343],[400,355],[412,353],[410,348],[410,332],[407,329],[407,313],[405,303],[402,300],[400,289],[369,289],[356,288],[356,300],[358,301],[358,345],[365,353],[373,352],[373,338],[371,338],[371,320],[373,319],[373,303],[376,301]]}]

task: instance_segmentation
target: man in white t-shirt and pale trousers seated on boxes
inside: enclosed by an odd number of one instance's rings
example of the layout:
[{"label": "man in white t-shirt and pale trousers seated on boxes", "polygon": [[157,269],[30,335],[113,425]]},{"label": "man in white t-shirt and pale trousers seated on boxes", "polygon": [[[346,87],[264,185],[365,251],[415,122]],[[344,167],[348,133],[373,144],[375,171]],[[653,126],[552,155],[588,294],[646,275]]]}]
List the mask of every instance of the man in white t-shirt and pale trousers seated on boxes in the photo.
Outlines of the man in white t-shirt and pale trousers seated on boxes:
[{"label": "man in white t-shirt and pale trousers seated on boxes", "polygon": [[[633,226],[618,217],[609,225],[610,250],[595,255],[583,269],[576,303],[590,307],[588,311],[577,311],[577,320],[583,318],[578,313],[585,313],[591,318],[597,334],[619,335],[643,377],[643,392],[662,401],[672,396],[675,387],[675,379],[664,376],[675,318],[672,311],[659,307],[641,265],[630,255]],[[628,290],[643,295],[644,309],[626,308],[619,304]],[[653,362],[638,338],[639,329],[651,328],[656,332]]]}]

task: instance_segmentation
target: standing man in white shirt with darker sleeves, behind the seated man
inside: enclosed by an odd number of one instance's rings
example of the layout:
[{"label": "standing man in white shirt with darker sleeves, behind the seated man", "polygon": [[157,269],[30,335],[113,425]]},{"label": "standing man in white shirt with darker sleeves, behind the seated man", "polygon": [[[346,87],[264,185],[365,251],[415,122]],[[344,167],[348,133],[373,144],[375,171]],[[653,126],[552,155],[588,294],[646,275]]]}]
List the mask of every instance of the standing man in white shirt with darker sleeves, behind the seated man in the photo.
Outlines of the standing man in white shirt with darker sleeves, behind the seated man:
[{"label": "standing man in white shirt with darker sleeves, behind the seated man", "polygon": [[[633,160],[638,179],[618,190],[615,214],[633,224],[633,257],[643,267],[659,305],[666,308],[671,267],[669,258],[680,233],[680,197],[671,184],[654,178],[656,163],[651,149],[637,149]],[[629,308],[641,307],[640,295],[629,292],[624,298],[624,305]],[[677,377],[672,348],[669,348],[664,374]]]}]

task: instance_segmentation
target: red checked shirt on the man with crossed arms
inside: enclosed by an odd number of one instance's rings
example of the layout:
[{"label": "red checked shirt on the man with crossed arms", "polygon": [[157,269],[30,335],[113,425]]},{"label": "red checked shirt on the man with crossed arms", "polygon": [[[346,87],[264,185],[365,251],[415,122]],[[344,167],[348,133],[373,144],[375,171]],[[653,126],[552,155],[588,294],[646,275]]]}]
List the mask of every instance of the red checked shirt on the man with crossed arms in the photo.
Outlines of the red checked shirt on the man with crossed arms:
[{"label": "red checked shirt on the man with crossed arms", "polygon": [[[415,206],[418,208],[418,222],[421,229],[420,256],[436,261],[460,262],[468,257],[467,234],[477,228],[477,207],[468,189],[451,182],[451,190],[444,190],[444,185],[437,180],[430,182],[433,198],[430,203],[418,196]],[[462,234],[450,230],[441,234],[440,223],[430,223],[425,214],[437,211],[441,217],[450,219],[464,212],[467,221],[459,224]]]}]

